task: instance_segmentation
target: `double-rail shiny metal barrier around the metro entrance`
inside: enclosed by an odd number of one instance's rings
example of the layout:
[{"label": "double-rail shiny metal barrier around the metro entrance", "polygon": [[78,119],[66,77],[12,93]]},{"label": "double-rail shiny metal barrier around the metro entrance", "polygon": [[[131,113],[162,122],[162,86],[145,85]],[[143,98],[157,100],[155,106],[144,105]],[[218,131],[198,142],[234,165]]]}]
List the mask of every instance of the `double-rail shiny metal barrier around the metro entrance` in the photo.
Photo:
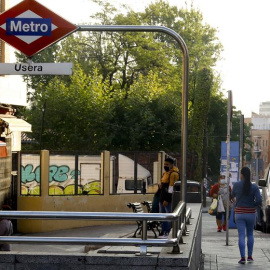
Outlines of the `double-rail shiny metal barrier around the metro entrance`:
[{"label": "double-rail shiny metal barrier around the metro entrance", "polygon": [[[87,238],[87,237],[31,237],[31,236],[0,236],[2,243],[41,243],[87,245],[105,244],[111,246],[139,246],[140,255],[147,254],[149,246],[172,246],[173,253],[180,253],[179,244],[182,236],[188,234],[186,225],[190,224],[191,209],[180,202],[173,213],[119,213],[119,212],[57,212],[57,211],[0,211],[0,218],[8,219],[85,219],[104,221],[137,221],[143,222],[141,239],[134,238]],[[185,214],[186,212],[186,214]],[[147,221],[172,221],[172,238],[147,239]]]}]

